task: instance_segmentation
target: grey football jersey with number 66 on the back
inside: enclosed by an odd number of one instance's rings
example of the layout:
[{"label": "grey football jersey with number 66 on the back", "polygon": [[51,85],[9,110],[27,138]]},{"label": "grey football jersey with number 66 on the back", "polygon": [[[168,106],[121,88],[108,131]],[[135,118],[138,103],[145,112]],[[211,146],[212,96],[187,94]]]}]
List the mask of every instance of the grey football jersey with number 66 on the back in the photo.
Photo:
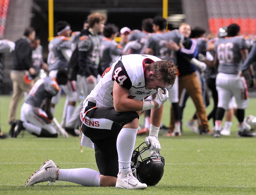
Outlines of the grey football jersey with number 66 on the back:
[{"label": "grey football jersey with number 66 on the back", "polygon": [[219,60],[219,73],[238,74],[242,66],[240,49],[247,49],[243,36],[220,38],[215,42],[214,51]]}]

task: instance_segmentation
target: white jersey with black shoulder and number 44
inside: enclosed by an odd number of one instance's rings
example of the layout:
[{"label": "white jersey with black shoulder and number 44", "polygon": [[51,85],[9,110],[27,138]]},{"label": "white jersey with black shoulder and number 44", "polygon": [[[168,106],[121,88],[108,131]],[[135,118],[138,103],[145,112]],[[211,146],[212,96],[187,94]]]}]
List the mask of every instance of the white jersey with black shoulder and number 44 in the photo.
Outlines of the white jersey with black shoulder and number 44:
[{"label": "white jersey with black shoulder and number 44", "polygon": [[92,97],[97,101],[97,107],[113,107],[113,86],[117,82],[122,87],[129,90],[129,98],[143,100],[156,90],[145,88],[145,64],[154,63],[161,60],[151,55],[130,54],[118,58],[116,62],[107,68],[100,81],[84,100]]}]

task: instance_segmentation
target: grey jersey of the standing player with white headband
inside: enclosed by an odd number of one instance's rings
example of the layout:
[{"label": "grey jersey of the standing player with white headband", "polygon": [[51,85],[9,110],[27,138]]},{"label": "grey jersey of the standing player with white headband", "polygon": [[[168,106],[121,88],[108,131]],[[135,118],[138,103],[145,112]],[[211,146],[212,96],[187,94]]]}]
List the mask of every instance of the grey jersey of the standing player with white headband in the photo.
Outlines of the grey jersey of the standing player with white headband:
[{"label": "grey jersey of the standing player with white headband", "polygon": [[52,39],[48,45],[49,54],[47,63],[49,71],[68,68],[68,61],[63,56],[61,50],[71,50],[71,42],[68,37],[57,36]]}]

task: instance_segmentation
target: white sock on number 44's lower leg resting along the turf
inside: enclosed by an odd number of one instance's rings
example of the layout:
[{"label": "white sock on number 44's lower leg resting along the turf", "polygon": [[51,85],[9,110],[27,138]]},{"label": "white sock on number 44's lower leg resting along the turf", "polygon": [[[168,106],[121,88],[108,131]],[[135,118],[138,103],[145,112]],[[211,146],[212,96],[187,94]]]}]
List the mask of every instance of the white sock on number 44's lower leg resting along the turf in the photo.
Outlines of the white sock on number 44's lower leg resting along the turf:
[{"label": "white sock on number 44's lower leg resting along the turf", "polygon": [[85,186],[100,186],[100,173],[90,168],[60,169],[59,181]]}]

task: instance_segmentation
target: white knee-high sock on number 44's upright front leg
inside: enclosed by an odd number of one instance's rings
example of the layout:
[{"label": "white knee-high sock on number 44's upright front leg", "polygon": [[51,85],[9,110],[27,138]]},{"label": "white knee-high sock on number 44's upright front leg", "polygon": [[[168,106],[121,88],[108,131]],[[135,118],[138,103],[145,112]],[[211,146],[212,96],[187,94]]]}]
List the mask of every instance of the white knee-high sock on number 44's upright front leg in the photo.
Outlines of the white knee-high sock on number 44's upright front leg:
[{"label": "white knee-high sock on number 44's upright front leg", "polygon": [[138,129],[123,128],[116,140],[119,172],[131,169],[132,152]]}]

